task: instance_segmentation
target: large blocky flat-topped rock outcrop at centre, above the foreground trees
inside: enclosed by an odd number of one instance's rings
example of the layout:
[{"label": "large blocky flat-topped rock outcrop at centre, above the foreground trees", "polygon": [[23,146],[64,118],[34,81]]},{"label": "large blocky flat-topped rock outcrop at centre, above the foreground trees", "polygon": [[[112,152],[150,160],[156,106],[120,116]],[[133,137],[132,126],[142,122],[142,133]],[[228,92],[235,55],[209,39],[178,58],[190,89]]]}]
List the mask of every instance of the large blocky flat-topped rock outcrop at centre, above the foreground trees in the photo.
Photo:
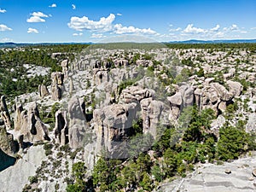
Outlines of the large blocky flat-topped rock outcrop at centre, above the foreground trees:
[{"label": "large blocky flat-topped rock outcrop at centre, above the foreground trees", "polygon": [[137,104],[113,104],[93,112],[97,142],[100,148],[117,153],[120,145],[131,136],[132,122],[136,117]]}]

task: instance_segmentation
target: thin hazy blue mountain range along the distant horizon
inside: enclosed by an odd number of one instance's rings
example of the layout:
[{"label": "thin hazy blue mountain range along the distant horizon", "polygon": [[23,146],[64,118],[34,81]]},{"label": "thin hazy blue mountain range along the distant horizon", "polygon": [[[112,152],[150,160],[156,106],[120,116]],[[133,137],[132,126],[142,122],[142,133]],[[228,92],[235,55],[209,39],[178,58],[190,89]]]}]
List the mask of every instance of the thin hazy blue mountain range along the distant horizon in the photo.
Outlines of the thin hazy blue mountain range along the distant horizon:
[{"label": "thin hazy blue mountain range along the distant horizon", "polygon": [[[242,43],[250,43],[255,44],[256,39],[232,39],[232,40],[196,40],[191,39],[187,41],[170,41],[163,42],[165,44],[242,44]],[[13,42],[8,43],[0,43],[0,48],[15,48],[15,47],[25,47],[31,45],[50,45],[50,44],[93,44],[91,42],[88,43],[36,43],[36,44],[18,44]]]}]

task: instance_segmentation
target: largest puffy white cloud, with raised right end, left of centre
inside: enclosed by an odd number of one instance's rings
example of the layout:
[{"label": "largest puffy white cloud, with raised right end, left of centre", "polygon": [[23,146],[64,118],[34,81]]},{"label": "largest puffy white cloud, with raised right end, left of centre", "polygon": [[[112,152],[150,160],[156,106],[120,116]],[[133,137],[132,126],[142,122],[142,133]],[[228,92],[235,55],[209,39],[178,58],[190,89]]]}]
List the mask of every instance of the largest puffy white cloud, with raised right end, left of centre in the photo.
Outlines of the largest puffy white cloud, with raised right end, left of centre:
[{"label": "largest puffy white cloud, with raised right end, left of centre", "polygon": [[100,20],[89,20],[88,17],[71,17],[70,22],[67,24],[69,28],[76,31],[83,30],[102,30],[104,32],[109,32],[112,28],[112,22],[115,19],[113,14],[108,15],[108,17],[102,17]]}]

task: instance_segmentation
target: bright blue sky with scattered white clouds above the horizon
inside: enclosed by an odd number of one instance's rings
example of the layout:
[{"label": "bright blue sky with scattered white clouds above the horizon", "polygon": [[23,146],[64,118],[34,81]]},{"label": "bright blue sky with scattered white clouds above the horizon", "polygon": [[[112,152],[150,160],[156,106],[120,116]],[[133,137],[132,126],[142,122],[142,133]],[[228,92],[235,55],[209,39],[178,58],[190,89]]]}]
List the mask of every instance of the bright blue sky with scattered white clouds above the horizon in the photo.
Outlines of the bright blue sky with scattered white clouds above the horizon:
[{"label": "bright blue sky with scattered white clouds above the horizon", "polygon": [[0,42],[255,39],[255,0],[0,0]]}]

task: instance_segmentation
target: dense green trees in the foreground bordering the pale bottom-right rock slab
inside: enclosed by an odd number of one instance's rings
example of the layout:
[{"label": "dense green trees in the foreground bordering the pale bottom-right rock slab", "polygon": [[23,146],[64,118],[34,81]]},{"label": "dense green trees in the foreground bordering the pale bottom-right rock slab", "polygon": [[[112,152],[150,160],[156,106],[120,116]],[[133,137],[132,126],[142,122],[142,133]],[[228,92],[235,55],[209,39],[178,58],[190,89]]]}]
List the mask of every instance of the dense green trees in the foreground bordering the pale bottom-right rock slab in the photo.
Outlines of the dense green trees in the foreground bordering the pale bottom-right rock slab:
[{"label": "dense green trees in the foreground bordering the pale bottom-right rock slab", "polygon": [[[231,105],[227,113],[234,113],[236,105]],[[219,131],[219,140],[210,130],[214,119],[212,109],[198,111],[198,108],[186,108],[181,116],[180,127],[167,127],[160,140],[154,143],[154,160],[147,152],[131,155],[126,160],[101,158],[94,167],[92,183],[79,184],[79,177],[85,174],[82,164],[79,173],[73,173],[76,182],[68,185],[73,191],[151,191],[158,183],[172,177],[185,177],[187,172],[194,170],[197,162],[214,162],[219,160],[234,160],[242,153],[255,147],[253,136],[244,131],[244,123],[236,127],[224,125]],[[188,127],[183,127],[188,125]],[[137,135],[141,134],[142,121],[134,122],[133,128]],[[180,139],[181,138],[181,139]],[[251,142],[250,142],[251,141]],[[136,143],[138,145],[138,143]],[[80,167],[81,166],[81,167]],[[81,169],[80,169],[81,168]],[[85,182],[85,181],[83,181]],[[82,183],[83,183],[82,182]],[[81,183],[81,182],[80,182]]]}]

